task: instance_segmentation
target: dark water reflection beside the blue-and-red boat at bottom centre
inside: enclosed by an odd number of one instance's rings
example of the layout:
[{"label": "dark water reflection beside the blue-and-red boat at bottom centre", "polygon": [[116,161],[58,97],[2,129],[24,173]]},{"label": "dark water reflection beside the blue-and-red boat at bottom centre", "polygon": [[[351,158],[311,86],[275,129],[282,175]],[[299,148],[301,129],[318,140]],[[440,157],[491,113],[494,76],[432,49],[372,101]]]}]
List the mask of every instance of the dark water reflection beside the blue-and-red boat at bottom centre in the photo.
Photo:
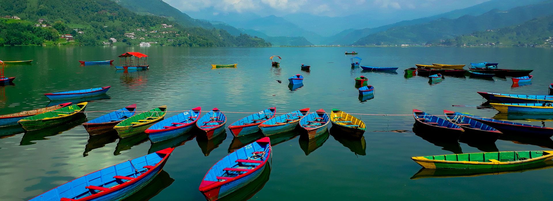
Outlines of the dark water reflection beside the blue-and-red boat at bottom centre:
[{"label": "dark water reflection beside the blue-and-red boat at bottom centre", "polygon": [[255,193],[261,191],[263,187],[265,186],[265,183],[269,181],[269,176],[271,174],[271,166],[270,164],[265,165],[263,167],[262,172],[259,174],[257,178],[255,178],[250,183],[246,184],[245,186],[236,189],[234,192],[229,193],[225,195],[224,197],[219,198],[218,200],[224,201],[224,200],[248,200],[255,195]]}]

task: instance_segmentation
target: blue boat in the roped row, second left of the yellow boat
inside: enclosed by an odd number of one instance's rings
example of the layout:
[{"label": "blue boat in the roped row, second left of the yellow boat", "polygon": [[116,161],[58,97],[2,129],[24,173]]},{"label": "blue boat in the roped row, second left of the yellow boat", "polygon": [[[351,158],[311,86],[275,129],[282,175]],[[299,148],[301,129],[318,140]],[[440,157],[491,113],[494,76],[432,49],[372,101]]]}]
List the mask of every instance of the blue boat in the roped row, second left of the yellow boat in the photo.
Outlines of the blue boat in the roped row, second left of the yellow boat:
[{"label": "blue boat in the roped row, second left of the yellow boat", "polygon": [[293,131],[298,126],[301,117],[304,117],[307,112],[309,112],[309,108],[303,108],[276,116],[259,124],[258,127],[265,136]]}]

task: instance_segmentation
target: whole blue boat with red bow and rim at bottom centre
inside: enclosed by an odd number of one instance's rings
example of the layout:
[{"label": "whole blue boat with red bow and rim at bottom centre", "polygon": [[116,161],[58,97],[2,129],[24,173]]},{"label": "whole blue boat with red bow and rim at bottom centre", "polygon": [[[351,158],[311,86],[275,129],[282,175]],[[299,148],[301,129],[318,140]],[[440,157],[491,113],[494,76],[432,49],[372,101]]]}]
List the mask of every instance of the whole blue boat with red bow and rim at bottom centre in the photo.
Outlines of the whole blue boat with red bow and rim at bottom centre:
[{"label": "whole blue boat with red bow and rim at bottom centre", "polygon": [[265,137],[228,154],[207,171],[200,192],[213,201],[246,186],[270,166],[272,151],[270,139]]}]

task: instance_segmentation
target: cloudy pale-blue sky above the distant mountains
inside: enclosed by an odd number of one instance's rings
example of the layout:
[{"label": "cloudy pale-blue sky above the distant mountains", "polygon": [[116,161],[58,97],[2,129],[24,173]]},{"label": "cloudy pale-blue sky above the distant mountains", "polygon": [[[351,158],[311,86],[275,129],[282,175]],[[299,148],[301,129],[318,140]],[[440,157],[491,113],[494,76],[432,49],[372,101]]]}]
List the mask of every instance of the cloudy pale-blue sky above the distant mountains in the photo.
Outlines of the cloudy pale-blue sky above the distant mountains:
[{"label": "cloudy pale-blue sky above the distant mountains", "polygon": [[[253,13],[261,16],[282,16],[309,13],[342,17],[362,12],[401,14],[413,18],[466,8],[488,0],[163,0],[182,12],[202,15]],[[193,16],[194,17],[194,16]],[[408,17],[408,16],[406,16]],[[408,17],[409,18],[409,17]]]}]

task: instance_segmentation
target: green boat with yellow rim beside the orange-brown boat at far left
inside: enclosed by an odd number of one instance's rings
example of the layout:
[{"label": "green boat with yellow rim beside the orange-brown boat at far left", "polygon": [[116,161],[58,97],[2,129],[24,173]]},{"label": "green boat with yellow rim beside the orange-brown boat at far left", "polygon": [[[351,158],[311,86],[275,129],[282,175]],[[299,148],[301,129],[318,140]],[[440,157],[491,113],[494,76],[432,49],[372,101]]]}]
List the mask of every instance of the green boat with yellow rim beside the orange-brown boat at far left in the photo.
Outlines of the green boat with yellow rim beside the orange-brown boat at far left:
[{"label": "green boat with yellow rim beside the orange-brown boat at far left", "polygon": [[50,112],[44,112],[35,116],[23,118],[18,121],[25,131],[34,131],[51,126],[58,126],[82,115],[88,102],[62,107]]}]

